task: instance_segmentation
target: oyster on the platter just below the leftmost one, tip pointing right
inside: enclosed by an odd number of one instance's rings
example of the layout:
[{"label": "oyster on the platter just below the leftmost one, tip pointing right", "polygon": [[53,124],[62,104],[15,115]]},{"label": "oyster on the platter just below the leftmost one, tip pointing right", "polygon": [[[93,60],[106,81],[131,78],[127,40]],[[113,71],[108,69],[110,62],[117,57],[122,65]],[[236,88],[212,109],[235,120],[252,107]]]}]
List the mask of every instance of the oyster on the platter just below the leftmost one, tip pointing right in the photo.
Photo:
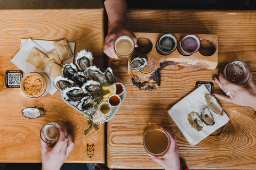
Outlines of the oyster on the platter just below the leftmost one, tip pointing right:
[{"label": "oyster on the platter just below the leftmost one, tip pointing right", "polygon": [[88,96],[80,87],[66,88],[62,91],[62,94],[65,100],[73,101],[81,100],[83,97]]}]

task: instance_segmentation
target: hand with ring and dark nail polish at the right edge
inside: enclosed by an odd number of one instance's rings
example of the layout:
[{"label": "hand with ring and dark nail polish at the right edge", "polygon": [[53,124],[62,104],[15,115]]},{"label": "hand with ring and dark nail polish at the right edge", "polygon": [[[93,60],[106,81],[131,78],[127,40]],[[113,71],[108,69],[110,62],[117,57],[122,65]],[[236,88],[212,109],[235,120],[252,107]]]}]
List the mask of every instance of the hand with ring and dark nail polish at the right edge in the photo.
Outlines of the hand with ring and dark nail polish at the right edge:
[{"label": "hand with ring and dark nail polish at the right edge", "polygon": [[244,85],[238,85],[228,81],[220,71],[218,71],[218,75],[219,77],[213,78],[213,80],[225,93],[229,91],[230,95],[212,94],[213,96],[237,105],[250,106],[256,111],[256,84],[253,80],[252,73],[250,79]]}]

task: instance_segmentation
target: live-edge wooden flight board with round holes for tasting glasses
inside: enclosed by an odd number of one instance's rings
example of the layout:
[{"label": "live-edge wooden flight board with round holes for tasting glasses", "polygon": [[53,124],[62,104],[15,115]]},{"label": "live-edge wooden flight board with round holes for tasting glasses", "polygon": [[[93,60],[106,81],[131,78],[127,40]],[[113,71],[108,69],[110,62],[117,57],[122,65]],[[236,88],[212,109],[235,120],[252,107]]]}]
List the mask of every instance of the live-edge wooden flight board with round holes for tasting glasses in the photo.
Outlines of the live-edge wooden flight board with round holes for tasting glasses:
[{"label": "live-edge wooden flight board with round holes for tasting glasses", "polygon": [[[182,39],[182,37],[188,35],[186,33],[172,33],[175,37],[177,37],[178,41]],[[188,67],[196,67],[201,69],[214,70],[218,65],[218,35],[203,35],[203,34],[195,34],[200,40],[202,39],[211,39],[216,44],[215,53],[211,56],[202,55],[199,50],[189,56],[183,56],[178,52],[178,48],[176,48],[169,55],[161,55],[156,50],[157,40],[164,35],[164,33],[146,33],[146,32],[134,32],[134,35],[139,38],[147,38],[153,44],[152,50],[147,54],[151,57],[157,58],[160,63],[165,61],[172,61],[178,65],[184,65]],[[136,51],[136,50],[135,50]],[[143,54],[139,54],[137,52],[134,53],[132,57],[143,56]]]}]

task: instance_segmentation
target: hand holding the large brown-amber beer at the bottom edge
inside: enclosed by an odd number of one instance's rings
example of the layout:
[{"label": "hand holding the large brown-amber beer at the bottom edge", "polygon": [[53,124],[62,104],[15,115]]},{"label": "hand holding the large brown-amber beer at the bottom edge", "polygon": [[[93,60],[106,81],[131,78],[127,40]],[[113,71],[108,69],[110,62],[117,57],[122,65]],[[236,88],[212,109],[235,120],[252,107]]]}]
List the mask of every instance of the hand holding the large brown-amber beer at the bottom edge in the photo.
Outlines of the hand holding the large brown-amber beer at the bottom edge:
[{"label": "hand holding the large brown-amber beer at the bottom edge", "polygon": [[170,148],[169,150],[165,153],[163,157],[157,157],[153,155],[149,155],[149,157],[154,160],[156,163],[160,164],[163,166],[164,169],[171,169],[171,170],[181,170],[181,165],[180,165],[180,157],[179,157],[179,148],[177,145],[176,137],[172,132],[165,128],[159,128],[164,130],[170,137]]}]

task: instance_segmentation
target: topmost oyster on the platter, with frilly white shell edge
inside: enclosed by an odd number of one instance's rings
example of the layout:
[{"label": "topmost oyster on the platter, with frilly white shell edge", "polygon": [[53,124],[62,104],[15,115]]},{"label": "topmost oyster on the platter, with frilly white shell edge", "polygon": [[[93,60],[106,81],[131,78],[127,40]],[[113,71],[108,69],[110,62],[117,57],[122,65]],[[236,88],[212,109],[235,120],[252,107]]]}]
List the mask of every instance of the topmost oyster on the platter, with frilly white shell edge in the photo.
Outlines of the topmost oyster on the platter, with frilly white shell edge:
[{"label": "topmost oyster on the platter, with frilly white shell edge", "polygon": [[93,63],[92,53],[87,49],[83,49],[80,52],[76,53],[75,64],[78,67],[79,71],[85,71],[88,67],[92,66]]}]

